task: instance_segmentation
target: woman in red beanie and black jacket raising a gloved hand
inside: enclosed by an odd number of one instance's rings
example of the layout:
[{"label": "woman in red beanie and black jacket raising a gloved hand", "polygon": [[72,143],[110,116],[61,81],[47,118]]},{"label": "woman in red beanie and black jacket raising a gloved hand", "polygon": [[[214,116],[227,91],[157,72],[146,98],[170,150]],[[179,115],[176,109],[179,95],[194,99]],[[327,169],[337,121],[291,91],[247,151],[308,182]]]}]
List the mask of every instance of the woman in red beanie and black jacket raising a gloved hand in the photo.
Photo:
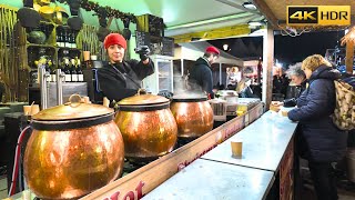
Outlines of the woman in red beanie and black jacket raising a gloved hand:
[{"label": "woman in red beanie and black jacket raising a gloved hand", "polygon": [[138,53],[141,61],[123,60],[126,41],[119,33],[110,33],[103,41],[110,62],[98,70],[98,79],[103,96],[110,101],[134,96],[141,88],[141,81],[154,72],[154,63],[148,57],[149,48]]}]

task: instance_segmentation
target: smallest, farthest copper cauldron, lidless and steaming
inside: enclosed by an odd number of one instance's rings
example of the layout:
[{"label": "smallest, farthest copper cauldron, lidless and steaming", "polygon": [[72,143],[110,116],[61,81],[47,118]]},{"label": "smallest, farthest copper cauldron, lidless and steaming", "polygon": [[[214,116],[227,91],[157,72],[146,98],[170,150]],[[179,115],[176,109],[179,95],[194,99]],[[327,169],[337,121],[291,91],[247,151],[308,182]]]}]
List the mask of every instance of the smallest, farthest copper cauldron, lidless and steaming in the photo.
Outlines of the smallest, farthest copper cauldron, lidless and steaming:
[{"label": "smallest, farthest copper cauldron, lidless and steaming", "polygon": [[170,109],[181,139],[195,139],[213,129],[213,110],[206,97],[174,96]]}]

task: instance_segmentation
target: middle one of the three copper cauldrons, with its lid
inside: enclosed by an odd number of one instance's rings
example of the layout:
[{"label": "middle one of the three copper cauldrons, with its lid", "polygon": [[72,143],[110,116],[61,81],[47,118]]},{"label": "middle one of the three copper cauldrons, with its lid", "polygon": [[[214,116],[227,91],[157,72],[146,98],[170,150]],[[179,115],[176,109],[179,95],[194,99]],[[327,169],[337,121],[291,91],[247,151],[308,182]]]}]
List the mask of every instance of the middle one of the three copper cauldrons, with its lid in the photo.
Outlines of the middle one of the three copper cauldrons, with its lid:
[{"label": "middle one of the three copper cauldrons, with its lid", "polygon": [[135,162],[156,159],[173,150],[178,127],[166,98],[136,94],[121,100],[115,123],[122,132],[125,157]]}]

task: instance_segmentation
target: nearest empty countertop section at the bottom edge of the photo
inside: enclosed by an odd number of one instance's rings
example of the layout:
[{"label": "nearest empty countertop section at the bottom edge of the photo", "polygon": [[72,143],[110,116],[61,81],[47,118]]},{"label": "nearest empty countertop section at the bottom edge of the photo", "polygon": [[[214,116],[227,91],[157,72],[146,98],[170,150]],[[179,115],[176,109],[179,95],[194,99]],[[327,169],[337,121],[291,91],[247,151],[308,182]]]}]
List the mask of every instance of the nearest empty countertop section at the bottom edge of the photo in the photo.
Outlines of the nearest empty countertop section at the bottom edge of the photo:
[{"label": "nearest empty countertop section at the bottom edge of the photo", "polygon": [[273,172],[197,159],[143,199],[264,199]]}]

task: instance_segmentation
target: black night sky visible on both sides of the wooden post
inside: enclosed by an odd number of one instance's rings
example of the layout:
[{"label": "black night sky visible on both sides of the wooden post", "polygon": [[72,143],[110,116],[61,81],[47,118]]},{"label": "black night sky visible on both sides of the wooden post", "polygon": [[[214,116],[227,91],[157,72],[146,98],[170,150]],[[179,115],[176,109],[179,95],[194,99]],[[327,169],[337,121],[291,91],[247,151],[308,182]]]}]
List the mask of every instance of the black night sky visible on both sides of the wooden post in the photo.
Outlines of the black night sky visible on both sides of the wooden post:
[{"label": "black night sky visible on both sides of the wooden post", "polygon": [[[275,59],[288,66],[301,62],[307,56],[318,53],[324,56],[326,49],[334,49],[342,39],[344,31],[324,31],[303,33],[298,37],[275,36]],[[209,41],[211,44],[223,49],[229,43],[231,53],[242,59],[255,59],[262,57],[263,38],[247,37]]]}]

